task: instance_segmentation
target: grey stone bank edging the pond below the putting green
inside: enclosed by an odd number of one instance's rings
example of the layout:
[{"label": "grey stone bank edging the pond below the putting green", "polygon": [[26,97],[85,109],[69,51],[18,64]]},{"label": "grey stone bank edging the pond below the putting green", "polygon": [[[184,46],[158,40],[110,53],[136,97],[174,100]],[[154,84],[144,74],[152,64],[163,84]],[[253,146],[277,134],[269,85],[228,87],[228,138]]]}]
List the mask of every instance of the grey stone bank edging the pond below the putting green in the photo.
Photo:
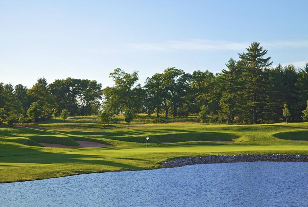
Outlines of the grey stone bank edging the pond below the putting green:
[{"label": "grey stone bank edging the pond below the putting green", "polygon": [[213,163],[234,163],[234,162],[308,162],[307,155],[210,155],[205,157],[188,157],[185,159],[175,159],[163,162],[167,168],[182,167],[192,164],[213,164]]}]

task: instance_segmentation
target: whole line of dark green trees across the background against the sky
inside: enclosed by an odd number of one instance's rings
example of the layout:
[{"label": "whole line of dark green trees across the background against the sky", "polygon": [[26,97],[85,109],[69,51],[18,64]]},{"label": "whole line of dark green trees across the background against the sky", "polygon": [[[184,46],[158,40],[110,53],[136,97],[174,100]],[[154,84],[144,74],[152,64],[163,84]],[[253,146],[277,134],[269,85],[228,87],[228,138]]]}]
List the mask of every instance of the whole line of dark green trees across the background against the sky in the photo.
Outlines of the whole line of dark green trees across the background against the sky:
[{"label": "whole line of dark green trees across the background against the sky", "polygon": [[[109,123],[120,113],[129,114],[131,121],[137,113],[155,113],[157,118],[163,113],[168,119],[202,111],[202,117],[220,117],[227,124],[264,124],[286,118],[282,110],[287,104],[289,121],[306,120],[302,113],[308,100],[308,63],[303,69],[292,64],[271,67],[266,54],[260,43],[253,42],[238,53],[238,61],[230,58],[220,73],[189,74],[169,67],[148,77],[143,87],[136,84],[138,72],[120,68],[110,73],[114,86],[104,89],[96,80],[70,77],[50,84],[39,78],[29,89],[0,83],[0,118],[10,123],[46,120],[65,109],[71,116],[99,114],[103,123]],[[36,117],[31,115],[33,103],[41,110]]]}]

